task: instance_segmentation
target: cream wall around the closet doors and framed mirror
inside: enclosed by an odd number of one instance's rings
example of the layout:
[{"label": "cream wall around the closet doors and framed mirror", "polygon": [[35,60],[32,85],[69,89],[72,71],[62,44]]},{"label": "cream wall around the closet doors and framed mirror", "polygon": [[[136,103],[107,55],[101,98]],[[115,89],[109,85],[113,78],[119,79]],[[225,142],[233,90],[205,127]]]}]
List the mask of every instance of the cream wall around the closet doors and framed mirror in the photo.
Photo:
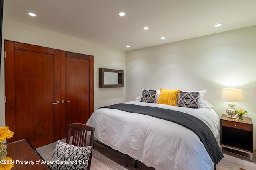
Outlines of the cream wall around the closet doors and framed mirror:
[{"label": "cream wall around the closet doors and framed mirror", "polygon": [[98,107],[125,102],[124,88],[99,88],[99,68],[125,70],[125,51],[97,45],[58,33],[31,27],[15,21],[3,21],[0,75],[0,127],[5,125],[4,108],[4,39],[50,47],[94,56],[94,110]]}]

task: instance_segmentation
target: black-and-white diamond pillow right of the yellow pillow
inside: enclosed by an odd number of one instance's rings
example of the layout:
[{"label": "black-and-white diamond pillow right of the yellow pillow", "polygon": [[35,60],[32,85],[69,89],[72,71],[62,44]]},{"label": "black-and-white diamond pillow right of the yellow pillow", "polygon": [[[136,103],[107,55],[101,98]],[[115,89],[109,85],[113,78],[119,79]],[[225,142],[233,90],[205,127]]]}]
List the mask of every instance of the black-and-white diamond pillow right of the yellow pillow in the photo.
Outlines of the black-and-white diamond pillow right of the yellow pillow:
[{"label": "black-and-white diamond pillow right of the yellow pillow", "polygon": [[179,107],[198,108],[198,92],[180,92]]}]

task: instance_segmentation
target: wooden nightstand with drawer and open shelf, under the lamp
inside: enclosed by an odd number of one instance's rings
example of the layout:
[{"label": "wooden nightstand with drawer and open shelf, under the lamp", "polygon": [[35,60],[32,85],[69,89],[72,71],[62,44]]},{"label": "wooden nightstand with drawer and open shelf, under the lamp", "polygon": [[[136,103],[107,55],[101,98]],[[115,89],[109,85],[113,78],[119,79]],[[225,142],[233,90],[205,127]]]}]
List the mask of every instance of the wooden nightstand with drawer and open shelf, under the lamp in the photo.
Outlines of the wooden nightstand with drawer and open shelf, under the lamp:
[{"label": "wooden nightstand with drawer and open shelf, under the lamp", "polygon": [[253,123],[252,119],[245,117],[244,121],[228,118],[222,115],[220,118],[220,145],[222,147],[253,154]]}]

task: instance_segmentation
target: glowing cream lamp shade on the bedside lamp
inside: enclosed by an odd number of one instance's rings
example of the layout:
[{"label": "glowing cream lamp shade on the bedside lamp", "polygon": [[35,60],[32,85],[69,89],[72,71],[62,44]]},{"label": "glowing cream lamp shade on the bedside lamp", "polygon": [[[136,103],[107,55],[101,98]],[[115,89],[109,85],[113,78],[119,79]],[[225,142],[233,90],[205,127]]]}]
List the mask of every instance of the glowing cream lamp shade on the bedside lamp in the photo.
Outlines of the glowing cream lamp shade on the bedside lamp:
[{"label": "glowing cream lamp shade on the bedside lamp", "polygon": [[243,90],[240,88],[223,88],[221,100],[229,102],[243,102]]}]

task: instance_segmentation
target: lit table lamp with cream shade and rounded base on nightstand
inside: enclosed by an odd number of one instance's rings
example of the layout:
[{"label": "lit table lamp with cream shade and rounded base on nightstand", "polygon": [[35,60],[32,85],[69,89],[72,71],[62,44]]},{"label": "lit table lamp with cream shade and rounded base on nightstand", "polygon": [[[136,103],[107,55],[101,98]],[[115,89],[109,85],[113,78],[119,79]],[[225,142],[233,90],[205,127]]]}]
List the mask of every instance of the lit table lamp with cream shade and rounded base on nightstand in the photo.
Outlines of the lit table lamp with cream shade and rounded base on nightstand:
[{"label": "lit table lamp with cream shade and rounded base on nightstand", "polygon": [[243,90],[240,88],[223,88],[222,89],[222,95],[221,100],[230,102],[228,105],[229,108],[226,109],[226,113],[228,114],[228,117],[230,118],[236,118],[236,111],[234,107],[236,104],[234,102],[243,102]]}]

